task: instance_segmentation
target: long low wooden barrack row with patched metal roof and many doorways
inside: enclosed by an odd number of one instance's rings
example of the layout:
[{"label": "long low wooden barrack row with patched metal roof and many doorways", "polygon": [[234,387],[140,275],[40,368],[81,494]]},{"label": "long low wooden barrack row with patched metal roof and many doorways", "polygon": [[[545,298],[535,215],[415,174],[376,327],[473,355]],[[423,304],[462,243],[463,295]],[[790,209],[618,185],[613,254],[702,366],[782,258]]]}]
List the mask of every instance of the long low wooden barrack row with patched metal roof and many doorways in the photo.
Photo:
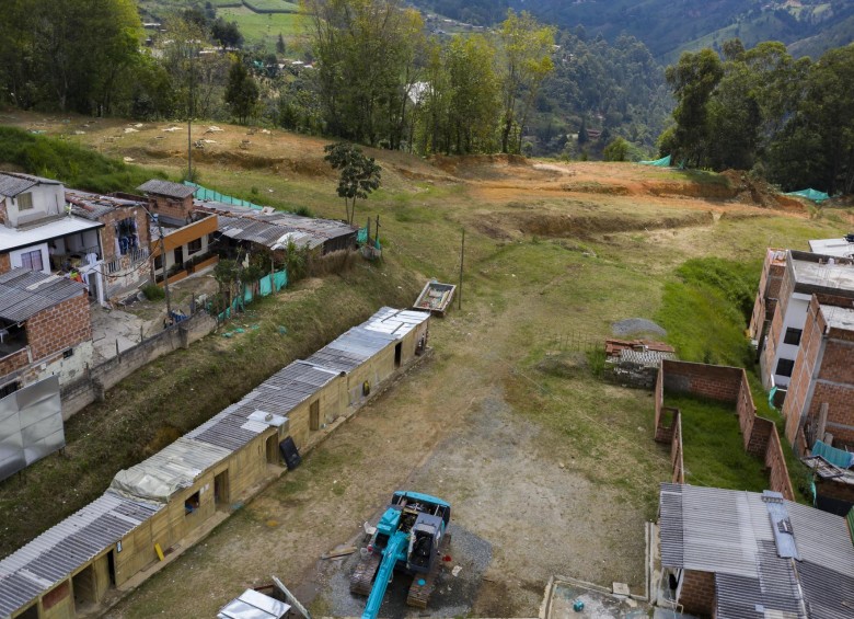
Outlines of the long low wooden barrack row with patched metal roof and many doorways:
[{"label": "long low wooden barrack row with patched metal roof and many doorways", "polygon": [[[381,308],[286,366],[147,460],[119,471],[80,512],[0,560],[0,617],[72,618],[187,538],[222,521],[282,473],[286,439],[305,451],[427,344],[430,314]],[[157,545],[157,547],[155,547]]]}]

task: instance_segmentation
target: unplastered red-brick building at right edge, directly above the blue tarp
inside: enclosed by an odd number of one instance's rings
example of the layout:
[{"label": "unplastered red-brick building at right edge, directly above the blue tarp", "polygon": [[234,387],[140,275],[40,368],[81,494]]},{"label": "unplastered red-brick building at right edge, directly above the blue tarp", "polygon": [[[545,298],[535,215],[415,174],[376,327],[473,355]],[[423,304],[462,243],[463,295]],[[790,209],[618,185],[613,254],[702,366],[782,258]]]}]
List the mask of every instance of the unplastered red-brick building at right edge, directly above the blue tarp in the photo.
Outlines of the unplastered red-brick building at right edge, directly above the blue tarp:
[{"label": "unplastered red-brick building at right edge, directly above the blue tarp", "polygon": [[854,305],[822,300],[812,295],[783,404],[786,438],[801,455],[826,433],[854,446]]}]

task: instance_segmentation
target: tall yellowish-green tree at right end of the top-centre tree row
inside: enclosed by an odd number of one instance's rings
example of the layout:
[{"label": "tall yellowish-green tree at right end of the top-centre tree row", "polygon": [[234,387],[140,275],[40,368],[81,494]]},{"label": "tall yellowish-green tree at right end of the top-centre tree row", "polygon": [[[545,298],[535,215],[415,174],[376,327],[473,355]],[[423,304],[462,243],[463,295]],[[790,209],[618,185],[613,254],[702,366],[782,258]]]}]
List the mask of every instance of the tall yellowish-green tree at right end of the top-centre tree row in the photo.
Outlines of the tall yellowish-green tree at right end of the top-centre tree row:
[{"label": "tall yellowish-green tree at right end of the top-centre tree row", "polygon": [[[554,69],[554,26],[540,24],[530,13],[507,12],[498,36],[504,53],[501,152],[518,152],[524,123],[545,77]],[[511,134],[517,136],[511,142]]]}]

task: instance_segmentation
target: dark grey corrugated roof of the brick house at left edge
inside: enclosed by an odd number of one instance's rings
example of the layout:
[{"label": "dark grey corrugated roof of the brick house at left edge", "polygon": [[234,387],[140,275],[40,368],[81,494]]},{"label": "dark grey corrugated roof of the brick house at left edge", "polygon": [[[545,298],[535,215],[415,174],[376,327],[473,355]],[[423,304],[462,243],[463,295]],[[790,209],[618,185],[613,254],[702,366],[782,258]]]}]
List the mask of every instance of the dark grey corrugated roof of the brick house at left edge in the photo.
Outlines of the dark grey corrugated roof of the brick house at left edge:
[{"label": "dark grey corrugated roof of the brick house at left edge", "polygon": [[41,271],[13,268],[0,275],[0,318],[22,322],[39,311],[85,294],[85,286]]}]

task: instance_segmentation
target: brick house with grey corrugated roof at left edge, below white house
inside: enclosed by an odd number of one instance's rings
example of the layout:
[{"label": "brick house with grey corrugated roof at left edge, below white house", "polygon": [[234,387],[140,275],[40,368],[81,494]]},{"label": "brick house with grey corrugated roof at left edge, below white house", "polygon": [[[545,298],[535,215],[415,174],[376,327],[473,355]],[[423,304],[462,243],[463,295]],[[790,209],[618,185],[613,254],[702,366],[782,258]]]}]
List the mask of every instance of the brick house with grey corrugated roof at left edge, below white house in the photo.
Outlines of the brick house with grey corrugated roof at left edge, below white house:
[{"label": "brick house with grey corrugated roof at left edge, below white house", "polygon": [[0,275],[0,394],[51,375],[69,381],[92,351],[83,284],[24,268]]}]

